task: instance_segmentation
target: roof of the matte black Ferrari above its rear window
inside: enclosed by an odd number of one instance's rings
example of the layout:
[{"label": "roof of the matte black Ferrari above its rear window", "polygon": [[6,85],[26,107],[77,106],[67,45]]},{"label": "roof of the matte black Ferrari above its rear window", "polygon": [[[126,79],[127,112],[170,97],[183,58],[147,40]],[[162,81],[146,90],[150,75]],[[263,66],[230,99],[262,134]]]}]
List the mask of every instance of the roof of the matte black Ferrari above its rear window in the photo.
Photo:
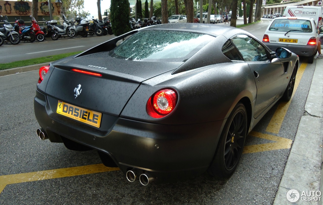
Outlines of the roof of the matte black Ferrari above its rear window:
[{"label": "roof of the matte black Ferrari above its rear window", "polygon": [[194,33],[203,33],[211,36],[219,36],[226,32],[236,30],[238,33],[245,33],[244,30],[229,26],[214,26],[210,24],[192,24],[192,23],[181,23],[181,24],[159,24],[156,26],[143,27],[141,30],[177,30],[177,31],[189,31]]}]

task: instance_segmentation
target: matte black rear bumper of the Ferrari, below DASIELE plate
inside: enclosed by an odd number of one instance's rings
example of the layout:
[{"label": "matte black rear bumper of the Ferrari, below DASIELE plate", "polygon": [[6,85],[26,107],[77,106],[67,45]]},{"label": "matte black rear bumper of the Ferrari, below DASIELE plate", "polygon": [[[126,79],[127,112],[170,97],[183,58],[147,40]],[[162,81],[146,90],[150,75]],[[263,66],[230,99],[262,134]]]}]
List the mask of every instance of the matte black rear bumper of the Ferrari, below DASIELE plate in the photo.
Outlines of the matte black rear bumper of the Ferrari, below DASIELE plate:
[{"label": "matte black rear bumper of the Ferrari, below DASIELE plate", "polygon": [[[224,120],[163,125],[103,116],[99,129],[55,113],[48,97],[36,92],[36,119],[51,142],[61,136],[97,149],[112,158],[122,172],[136,168],[158,179],[187,178],[209,167]],[[105,126],[103,124],[109,125]],[[103,129],[101,129],[103,128]]]}]

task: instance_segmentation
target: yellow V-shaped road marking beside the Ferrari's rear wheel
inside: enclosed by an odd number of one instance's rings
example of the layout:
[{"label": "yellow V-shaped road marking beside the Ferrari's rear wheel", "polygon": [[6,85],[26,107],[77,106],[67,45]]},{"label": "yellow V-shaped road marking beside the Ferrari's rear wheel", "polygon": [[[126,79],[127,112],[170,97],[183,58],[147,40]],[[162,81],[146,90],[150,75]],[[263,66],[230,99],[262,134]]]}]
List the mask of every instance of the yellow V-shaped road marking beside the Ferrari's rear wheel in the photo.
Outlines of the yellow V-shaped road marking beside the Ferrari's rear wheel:
[{"label": "yellow V-shaped road marking beside the Ferrari's rear wheel", "polygon": [[275,141],[275,142],[259,144],[259,145],[247,145],[243,149],[243,152],[242,152],[243,154],[264,152],[264,151],[270,151],[270,150],[276,150],[276,149],[289,149],[293,142],[293,140],[290,140],[284,137],[277,137],[274,135],[268,135],[268,134],[263,134],[259,132],[254,132],[254,131],[251,131],[249,135]]}]

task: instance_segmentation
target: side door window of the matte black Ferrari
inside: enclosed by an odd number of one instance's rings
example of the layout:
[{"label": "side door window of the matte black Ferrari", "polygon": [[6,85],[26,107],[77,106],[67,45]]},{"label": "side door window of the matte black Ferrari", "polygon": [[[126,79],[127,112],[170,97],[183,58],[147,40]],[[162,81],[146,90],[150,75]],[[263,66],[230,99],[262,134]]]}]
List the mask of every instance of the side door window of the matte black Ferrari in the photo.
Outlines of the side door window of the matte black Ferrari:
[{"label": "side door window of the matte black Ferrari", "polygon": [[266,49],[254,38],[239,34],[232,38],[232,42],[239,50],[245,61],[266,61]]}]

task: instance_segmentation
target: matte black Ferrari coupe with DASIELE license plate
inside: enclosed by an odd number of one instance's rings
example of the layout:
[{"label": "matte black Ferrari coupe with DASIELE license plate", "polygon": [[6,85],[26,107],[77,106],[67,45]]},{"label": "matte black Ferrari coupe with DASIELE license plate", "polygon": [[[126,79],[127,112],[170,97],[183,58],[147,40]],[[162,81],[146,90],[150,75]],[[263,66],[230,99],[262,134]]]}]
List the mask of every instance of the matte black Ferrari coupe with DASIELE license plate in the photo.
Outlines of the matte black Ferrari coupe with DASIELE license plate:
[{"label": "matte black Ferrari coupe with DASIELE license plate", "polygon": [[227,178],[255,124],[290,100],[298,64],[234,27],[133,30],[40,68],[37,135],[96,149],[143,185],[205,171]]}]

